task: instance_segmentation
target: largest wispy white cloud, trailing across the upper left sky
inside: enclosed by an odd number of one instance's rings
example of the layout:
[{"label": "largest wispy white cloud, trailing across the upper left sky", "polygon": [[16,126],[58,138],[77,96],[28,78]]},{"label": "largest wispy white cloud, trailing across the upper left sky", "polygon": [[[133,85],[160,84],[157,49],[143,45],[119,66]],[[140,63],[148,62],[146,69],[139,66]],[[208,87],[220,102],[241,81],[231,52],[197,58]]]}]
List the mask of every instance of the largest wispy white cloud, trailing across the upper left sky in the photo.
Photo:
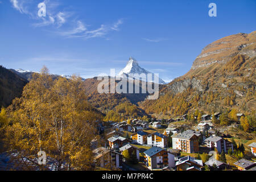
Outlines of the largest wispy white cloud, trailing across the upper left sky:
[{"label": "largest wispy white cloud, trailing across the upper left sky", "polygon": [[[33,23],[32,26],[52,26],[53,28],[56,28],[53,32],[57,33],[57,35],[64,36],[65,38],[82,38],[86,40],[90,38],[104,37],[106,40],[110,40],[109,38],[106,38],[105,35],[109,34],[111,31],[119,31],[119,26],[123,24],[123,19],[118,19],[117,22],[114,22],[113,24],[101,24],[101,26],[96,29],[88,30],[88,26],[86,26],[86,24],[81,20],[74,21],[74,19],[76,19],[73,17],[75,14],[74,12],[59,10],[59,3],[56,3],[55,1],[43,1],[46,4],[46,17],[39,17],[35,10],[28,11],[28,7],[32,6],[32,3],[35,3],[33,1],[10,0],[10,2],[14,9],[18,10],[22,14],[30,15],[32,19],[38,21]],[[65,28],[61,28],[60,30],[60,27],[63,27],[64,24]]]}]

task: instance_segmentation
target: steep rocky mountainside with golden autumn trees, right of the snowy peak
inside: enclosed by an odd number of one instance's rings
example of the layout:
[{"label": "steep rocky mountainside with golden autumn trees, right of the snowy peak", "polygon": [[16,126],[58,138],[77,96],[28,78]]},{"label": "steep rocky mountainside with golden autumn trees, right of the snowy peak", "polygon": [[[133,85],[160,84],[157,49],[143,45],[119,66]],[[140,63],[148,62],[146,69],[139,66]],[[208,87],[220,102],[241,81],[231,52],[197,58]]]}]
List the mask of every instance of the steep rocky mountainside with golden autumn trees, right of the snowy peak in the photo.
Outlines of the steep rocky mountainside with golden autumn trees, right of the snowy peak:
[{"label": "steep rocky mountainside with golden autumn trees, right of the snowy peak", "polygon": [[146,113],[163,115],[185,114],[195,109],[209,114],[225,109],[253,112],[255,43],[256,31],[230,35],[209,44],[188,73],[160,89],[159,100],[143,101],[139,106]]}]

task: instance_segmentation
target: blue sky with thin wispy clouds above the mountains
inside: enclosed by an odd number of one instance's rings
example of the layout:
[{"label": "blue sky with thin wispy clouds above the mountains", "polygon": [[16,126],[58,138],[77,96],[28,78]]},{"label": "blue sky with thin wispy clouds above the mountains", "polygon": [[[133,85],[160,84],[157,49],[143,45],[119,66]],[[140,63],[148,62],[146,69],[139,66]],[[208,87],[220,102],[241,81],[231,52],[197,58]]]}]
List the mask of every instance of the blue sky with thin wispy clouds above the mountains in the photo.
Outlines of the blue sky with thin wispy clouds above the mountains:
[{"label": "blue sky with thin wispy clouds above the mountains", "polygon": [[168,82],[214,40],[255,31],[255,18],[254,0],[0,0],[0,64],[88,78],[119,72],[133,56]]}]

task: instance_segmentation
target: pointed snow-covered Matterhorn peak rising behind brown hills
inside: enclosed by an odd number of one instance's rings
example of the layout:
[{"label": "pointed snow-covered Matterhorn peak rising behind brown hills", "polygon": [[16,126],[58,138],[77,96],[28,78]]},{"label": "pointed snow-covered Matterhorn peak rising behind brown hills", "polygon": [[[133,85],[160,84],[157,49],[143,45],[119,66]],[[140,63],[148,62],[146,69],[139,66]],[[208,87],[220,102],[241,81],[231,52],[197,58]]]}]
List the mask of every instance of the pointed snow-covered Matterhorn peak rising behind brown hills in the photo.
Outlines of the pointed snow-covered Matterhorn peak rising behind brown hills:
[{"label": "pointed snow-covered Matterhorn peak rising behind brown hills", "polygon": [[[134,78],[136,80],[142,80],[142,81],[147,81],[144,80],[143,78],[137,77],[136,75],[134,75],[135,73],[138,73],[138,75],[141,75],[142,73],[147,74],[151,73],[148,72],[146,69],[143,69],[139,66],[137,60],[135,60],[133,57],[130,57],[128,63],[126,64],[126,67],[123,68],[117,75],[117,77],[126,77],[126,78]],[[154,73],[152,73],[152,82],[156,82],[154,81]],[[164,82],[161,78],[159,78],[159,84],[166,84],[166,82]]]}]

